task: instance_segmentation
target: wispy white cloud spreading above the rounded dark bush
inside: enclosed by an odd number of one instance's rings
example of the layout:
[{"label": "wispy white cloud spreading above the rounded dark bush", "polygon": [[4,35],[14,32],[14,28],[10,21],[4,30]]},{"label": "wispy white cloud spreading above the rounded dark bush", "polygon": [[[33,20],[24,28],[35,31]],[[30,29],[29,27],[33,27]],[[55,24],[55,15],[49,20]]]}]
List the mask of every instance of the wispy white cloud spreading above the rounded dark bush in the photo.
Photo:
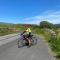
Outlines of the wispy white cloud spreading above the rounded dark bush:
[{"label": "wispy white cloud spreading above the rounded dark bush", "polygon": [[41,21],[49,21],[51,23],[60,23],[60,11],[48,10],[42,14],[30,18],[24,18],[26,23],[39,24]]}]

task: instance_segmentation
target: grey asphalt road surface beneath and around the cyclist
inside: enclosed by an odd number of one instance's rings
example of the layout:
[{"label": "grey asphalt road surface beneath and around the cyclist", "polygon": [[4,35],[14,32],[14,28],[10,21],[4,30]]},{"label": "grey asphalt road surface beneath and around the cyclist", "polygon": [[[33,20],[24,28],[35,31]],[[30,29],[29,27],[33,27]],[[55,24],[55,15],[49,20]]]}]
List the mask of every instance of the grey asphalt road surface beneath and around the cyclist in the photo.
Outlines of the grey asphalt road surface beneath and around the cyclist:
[{"label": "grey asphalt road surface beneath and around the cyclist", "polygon": [[38,44],[35,46],[18,48],[18,37],[9,38],[8,40],[15,40],[0,46],[0,60],[55,60],[41,38],[38,38]]}]

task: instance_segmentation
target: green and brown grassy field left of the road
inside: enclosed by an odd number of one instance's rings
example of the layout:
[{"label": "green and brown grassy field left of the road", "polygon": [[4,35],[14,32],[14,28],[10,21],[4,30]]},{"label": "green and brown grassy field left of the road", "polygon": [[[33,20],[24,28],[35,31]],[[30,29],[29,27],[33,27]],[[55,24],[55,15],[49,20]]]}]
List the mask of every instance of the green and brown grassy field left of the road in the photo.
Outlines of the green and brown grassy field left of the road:
[{"label": "green and brown grassy field left of the road", "polygon": [[24,30],[20,24],[0,24],[0,36],[17,33]]}]

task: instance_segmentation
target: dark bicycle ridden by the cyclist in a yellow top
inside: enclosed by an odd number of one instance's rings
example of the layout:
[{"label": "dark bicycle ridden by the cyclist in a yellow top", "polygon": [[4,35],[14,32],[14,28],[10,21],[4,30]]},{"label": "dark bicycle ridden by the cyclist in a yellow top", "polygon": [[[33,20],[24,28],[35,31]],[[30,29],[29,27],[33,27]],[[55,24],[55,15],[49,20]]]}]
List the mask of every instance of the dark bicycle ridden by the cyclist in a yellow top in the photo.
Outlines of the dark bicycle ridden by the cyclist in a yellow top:
[{"label": "dark bicycle ridden by the cyclist in a yellow top", "polygon": [[[31,45],[36,45],[37,44],[37,38],[34,35],[31,35],[30,38]],[[23,35],[20,35],[20,38],[18,39],[17,42],[18,48],[23,47],[23,46],[29,46],[29,41],[23,38]]]}]

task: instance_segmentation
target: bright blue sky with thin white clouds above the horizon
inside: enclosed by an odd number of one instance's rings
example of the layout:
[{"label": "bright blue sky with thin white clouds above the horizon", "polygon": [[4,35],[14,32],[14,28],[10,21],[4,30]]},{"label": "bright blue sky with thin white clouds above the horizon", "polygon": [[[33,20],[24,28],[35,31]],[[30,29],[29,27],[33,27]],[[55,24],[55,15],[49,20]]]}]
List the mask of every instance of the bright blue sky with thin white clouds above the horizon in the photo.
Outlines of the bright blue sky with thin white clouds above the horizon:
[{"label": "bright blue sky with thin white clouds above the horizon", "polygon": [[60,0],[0,0],[0,22],[60,23]]}]

